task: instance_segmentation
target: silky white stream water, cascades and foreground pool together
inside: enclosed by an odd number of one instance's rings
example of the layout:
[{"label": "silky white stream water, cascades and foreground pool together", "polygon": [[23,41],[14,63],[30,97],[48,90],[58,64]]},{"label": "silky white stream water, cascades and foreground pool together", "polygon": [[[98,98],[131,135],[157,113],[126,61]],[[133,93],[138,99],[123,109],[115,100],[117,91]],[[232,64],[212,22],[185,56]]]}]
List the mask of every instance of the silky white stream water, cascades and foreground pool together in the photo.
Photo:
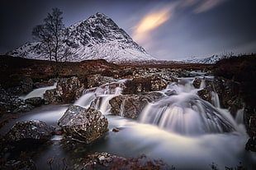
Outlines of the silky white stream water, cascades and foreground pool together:
[{"label": "silky white stream water, cascades and foreground pool together", "polygon": [[[181,79],[178,84],[168,85],[161,91],[164,98],[148,103],[138,120],[109,114],[108,101],[121,94],[121,85],[115,88],[103,85],[85,91],[74,104],[101,110],[108,119],[110,131],[91,145],[77,142],[72,149],[64,149],[59,140],[61,137],[55,136],[53,145],[43,149],[36,158],[38,168],[45,169],[46,160],[53,157],[74,159],[88,152],[106,151],[128,158],[145,154],[149,159],[161,159],[178,170],[211,169],[211,163],[217,164],[219,169],[225,169],[225,166],[236,168],[239,163],[255,169],[256,155],[244,149],[249,136],[241,121],[243,110],[239,110],[234,119],[227,110],[216,105],[216,97],[212,103],[200,99],[198,90],[192,87],[192,80]],[[38,109],[44,107],[47,106]],[[58,122],[67,107],[59,105],[53,111],[37,111],[20,119],[40,119],[56,125],[53,122]],[[121,131],[111,131],[114,127]]]}]

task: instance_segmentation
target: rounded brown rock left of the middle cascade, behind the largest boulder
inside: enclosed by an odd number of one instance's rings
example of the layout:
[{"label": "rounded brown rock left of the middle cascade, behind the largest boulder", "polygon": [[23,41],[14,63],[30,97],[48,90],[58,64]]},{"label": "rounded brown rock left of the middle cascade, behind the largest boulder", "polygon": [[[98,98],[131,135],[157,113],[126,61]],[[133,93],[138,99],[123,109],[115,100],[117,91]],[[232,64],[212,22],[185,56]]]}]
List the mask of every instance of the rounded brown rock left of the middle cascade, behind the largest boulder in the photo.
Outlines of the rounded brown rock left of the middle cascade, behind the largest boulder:
[{"label": "rounded brown rock left of the middle cascade, behind the largest boulder", "polygon": [[78,77],[72,76],[69,79],[58,80],[56,93],[64,103],[72,103],[83,94],[84,89]]}]

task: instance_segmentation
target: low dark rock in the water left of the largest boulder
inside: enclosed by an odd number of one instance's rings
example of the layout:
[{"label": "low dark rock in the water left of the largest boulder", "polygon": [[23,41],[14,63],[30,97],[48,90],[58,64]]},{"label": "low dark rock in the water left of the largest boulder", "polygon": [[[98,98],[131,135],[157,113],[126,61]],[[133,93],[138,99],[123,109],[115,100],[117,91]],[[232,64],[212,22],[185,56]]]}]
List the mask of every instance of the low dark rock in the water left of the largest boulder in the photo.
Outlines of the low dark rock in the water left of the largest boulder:
[{"label": "low dark rock in the water left of the largest boulder", "polygon": [[48,126],[45,122],[31,120],[28,122],[17,122],[4,137],[7,142],[34,141],[45,142],[50,140],[55,128]]}]

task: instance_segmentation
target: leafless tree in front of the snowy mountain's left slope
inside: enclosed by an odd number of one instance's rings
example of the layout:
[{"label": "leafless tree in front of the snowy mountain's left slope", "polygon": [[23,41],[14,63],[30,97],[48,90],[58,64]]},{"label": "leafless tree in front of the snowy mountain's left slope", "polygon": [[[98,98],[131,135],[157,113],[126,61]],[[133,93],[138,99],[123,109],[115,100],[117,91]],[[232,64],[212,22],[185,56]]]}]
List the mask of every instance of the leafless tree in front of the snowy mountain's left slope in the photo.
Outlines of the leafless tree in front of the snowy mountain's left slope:
[{"label": "leafless tree in front of the snowy mountain's left slope", "polygon": [[48,13],[42,25],[36,25],[32,30],[32,35],[40,41],[40,49],[49,57],[50,61],[55,61],[55,76],[59,75],[59,62],[65,62],[70,54],[69,48],[64,48],[63,12],[59,8],[53,8],[52,13]]}]

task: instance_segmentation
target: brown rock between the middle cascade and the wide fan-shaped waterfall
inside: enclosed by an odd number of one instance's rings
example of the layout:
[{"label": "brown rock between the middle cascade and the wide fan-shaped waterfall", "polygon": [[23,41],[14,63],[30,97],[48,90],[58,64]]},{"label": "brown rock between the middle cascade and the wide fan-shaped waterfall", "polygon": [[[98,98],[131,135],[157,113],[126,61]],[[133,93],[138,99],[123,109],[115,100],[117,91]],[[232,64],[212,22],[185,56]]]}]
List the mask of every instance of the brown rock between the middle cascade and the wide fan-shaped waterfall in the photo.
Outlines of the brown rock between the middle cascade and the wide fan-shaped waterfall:
[{"label": "brown rock between the middle cascade and the wide fan-shaped waterfall", "polygon": [[139,117],[139,114],[149,102],[157,101],[162,97],[164,97],[164,94],[159,92],[144,95],[119,95],[109,101],[111,104],[111,114],[135,119]]}]

